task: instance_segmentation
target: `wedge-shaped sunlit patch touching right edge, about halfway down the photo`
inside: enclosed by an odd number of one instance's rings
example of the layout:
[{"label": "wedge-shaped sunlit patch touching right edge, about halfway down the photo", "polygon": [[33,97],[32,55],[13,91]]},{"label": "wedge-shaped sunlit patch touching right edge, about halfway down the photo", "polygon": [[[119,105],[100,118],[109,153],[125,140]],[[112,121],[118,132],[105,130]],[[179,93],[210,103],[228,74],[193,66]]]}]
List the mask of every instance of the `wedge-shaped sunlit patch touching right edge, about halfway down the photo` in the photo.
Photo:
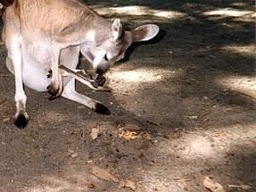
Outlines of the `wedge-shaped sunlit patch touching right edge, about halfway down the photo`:
[{"label": "wedge-shaped sunlit patch touching right edge, about halfway down the photo", "polygon": [[256,99],[255,77],[228,77],[217,79],[217,83],[226,90],[232,90],[241,95]]}]

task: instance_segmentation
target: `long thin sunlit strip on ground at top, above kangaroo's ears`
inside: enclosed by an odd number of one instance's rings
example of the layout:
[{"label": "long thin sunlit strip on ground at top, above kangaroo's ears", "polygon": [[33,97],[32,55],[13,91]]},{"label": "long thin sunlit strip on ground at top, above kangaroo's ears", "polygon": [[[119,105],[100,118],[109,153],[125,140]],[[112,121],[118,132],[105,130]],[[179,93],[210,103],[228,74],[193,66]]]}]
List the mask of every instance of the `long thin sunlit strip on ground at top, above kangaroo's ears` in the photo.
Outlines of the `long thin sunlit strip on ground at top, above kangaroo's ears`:
[{"label": "long thin sunlit strip on ground at top, above kangaroo's ears", "polygon": [[100,15],[151,15],[165,19],[177,19],[186,16],[178,11],[166,11],[158,9],[150,9],[145,6],[124,6],[124,7],[110,7],[110,8],[96,8]]}]

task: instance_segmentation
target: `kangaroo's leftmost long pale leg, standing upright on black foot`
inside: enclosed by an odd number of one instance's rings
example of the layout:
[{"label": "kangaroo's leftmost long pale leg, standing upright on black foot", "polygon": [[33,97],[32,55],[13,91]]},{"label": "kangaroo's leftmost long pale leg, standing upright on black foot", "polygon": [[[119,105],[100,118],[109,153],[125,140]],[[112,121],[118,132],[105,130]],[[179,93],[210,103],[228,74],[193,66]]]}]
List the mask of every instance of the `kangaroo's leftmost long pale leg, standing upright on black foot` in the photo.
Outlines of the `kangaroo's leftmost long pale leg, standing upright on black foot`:
[{"label": "kangaroo's leftmost long pale leg, standing upright on black foot", "polygon": [[22,84],[22,53],[20,35],[14,35],[6,40],[9,61],[13,62],[15,74],[15,125],[19,128],[24,128],[29,120],[26,113],[26,95]]}]

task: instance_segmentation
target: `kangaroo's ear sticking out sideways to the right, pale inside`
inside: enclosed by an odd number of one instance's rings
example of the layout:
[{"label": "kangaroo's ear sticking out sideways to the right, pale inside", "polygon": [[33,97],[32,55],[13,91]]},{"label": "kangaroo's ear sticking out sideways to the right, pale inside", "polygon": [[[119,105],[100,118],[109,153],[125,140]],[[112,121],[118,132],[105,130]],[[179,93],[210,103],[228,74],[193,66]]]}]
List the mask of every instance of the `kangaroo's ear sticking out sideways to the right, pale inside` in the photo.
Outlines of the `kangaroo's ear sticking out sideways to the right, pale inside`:
[{"label": "kangaroo's ear sticking out sideways to the right, pale inside", "polygon": [[133,42],[148,41],[154,38],[159,31],[159,27],[153,24],[139,26],[132,31],[132,40]]}]

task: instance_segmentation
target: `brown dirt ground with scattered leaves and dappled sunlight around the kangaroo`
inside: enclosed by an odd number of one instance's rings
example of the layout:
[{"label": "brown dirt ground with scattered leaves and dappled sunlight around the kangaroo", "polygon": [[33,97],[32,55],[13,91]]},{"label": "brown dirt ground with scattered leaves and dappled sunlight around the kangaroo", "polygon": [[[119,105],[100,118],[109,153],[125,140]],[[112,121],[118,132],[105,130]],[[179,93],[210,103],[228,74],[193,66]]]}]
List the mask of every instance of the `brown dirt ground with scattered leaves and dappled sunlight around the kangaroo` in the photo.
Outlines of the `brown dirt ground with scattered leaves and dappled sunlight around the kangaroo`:
[{"label": "brown dirt ground with scattered leaves and dappled sunlight around the kangaroo", "polygon": [[127,28],[155,23],[160,35],[113,67],[113,93],[77,84],[111,115],[26,89],[31,120],[23,130],[13,125],[14,77],[1,44],[0,191],[132,191],[97,177],[95,167],[137,192],[207,192],[206,177],[225,191],[256,191],[253,1],[87,3]]}]

